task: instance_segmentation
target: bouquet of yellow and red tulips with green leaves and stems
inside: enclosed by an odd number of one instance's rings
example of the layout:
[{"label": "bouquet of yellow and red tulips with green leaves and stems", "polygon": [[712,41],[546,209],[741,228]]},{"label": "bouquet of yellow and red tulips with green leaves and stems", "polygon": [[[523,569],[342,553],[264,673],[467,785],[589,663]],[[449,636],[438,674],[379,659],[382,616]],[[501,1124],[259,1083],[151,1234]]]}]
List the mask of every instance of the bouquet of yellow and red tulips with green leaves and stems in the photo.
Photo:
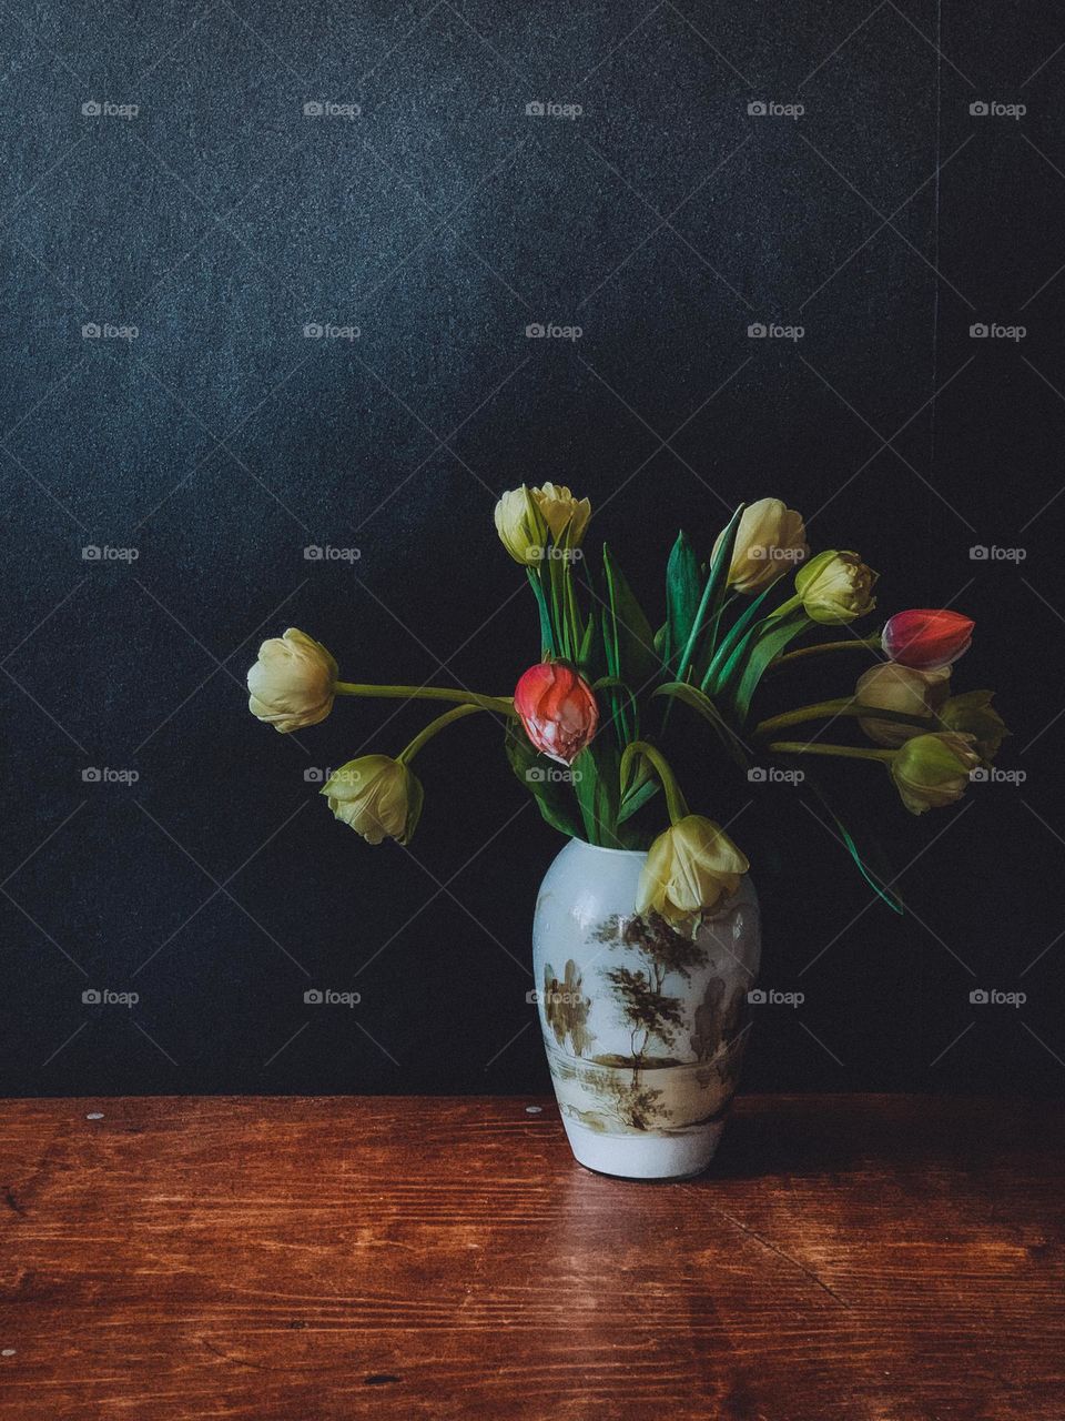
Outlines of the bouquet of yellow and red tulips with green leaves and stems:
[{"label": "bouquet of yellow and red tulips with green leaves and stems", "polygon": [[[876,635],[797,645],[868,617],[878,574],[856,553],[811,557],[802,517],[778,499],[741,504],[706,556],[677,536],[657,627],[609,547],[599,566],[584,556],[591,512],[588,499],[551,483],[514,489],[496,506],[496,529],[528,578],[538,622],[540,658],[510,695],[341,681],[329,652],[294,628],[263,644],[247,678],[250,709],[281,732],[324,720],[337,696],[450,703],[395,757],[354,759],[321,790],[368,843],[410,841],[422,809],[412,762],[454,722],[487,713],[503,723],[510,766],[542,817],[591,844],[649,850],[638,908],[680,924],[728,898],[748,868],[682,791],[672,746],[690,753],[693,729],[703,732],[699,757],[714,779],[761,777],[767,762],[866,760],[888,770],[913,814],[956,801],[994,759],[1008,732],[991,692],[951,693],[951,666],[973,634],[967,617],[900,611]],[[792,669],[845,665],[855,648],[875,664],[853,689],[760,718],[768,681],[780,689]],[[825,740],[832,723],[856,726],[863,743]],[[818,729],[804,740],[794,737],[798,726]],[[841,843],[897,907],[825,787],[808,779]]]}]

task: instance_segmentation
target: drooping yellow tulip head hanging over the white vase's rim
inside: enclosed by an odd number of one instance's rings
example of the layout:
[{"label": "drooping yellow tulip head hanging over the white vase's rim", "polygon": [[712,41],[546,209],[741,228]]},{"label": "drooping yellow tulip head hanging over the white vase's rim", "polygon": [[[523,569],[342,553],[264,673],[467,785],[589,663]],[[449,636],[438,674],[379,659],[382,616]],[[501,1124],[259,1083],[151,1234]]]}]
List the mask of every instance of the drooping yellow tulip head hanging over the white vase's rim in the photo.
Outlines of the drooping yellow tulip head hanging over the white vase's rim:
[{"label": "drooping yellow tulip head hanging over the white vase's rim", "polygon": [[650,845],[636,892],[638,912],[682,922],[731,898],[751,865],[726,831],[701,814],[686,814]]}]

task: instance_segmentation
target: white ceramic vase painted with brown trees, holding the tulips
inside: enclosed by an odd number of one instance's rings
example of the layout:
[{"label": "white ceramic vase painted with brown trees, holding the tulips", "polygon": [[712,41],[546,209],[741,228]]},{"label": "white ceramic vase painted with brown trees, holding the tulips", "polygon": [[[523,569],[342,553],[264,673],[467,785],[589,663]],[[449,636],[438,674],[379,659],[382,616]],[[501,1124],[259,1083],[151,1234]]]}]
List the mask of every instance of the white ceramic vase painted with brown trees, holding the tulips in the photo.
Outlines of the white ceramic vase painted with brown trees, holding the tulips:
[{"label": "white ceramic vase painted with brown trees, holding the tulips", "polygon": [[643,853],[571,840],[532,922],[540,1025],[569,1145],[629,1179],[710,1164],[736,1091],[758,899],[740,891],[683,929],[636,914]]}]

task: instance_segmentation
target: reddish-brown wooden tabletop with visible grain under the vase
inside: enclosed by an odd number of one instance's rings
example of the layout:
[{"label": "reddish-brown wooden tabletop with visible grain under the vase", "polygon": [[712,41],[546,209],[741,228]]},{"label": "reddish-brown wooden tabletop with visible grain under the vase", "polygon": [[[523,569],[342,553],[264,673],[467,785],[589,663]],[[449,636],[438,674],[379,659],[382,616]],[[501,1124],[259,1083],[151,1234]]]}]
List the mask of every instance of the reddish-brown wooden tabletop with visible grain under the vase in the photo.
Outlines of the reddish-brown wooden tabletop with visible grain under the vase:
[{"label": "reddish-brown wooden tabletop with visible grain under the vase", "polygon": [[0,1417],[1062,1421],[1064,1123],[744,1098],[653,1185],[547,1100],[7,1101]]}]

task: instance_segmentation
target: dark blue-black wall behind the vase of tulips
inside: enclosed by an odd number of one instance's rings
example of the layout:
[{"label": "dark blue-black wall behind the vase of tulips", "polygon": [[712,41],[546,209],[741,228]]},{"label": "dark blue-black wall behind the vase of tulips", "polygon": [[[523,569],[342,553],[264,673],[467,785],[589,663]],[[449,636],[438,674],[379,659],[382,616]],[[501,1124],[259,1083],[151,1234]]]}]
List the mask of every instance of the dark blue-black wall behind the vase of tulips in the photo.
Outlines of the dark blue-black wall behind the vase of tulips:
[{"label": "dark blue-black wall behind the vase of tulips", "polygon": [[[656,605],[680,523],[709,549],[774,493],[883,611],[977,618],[957,679],[998,688],[1025,779],[920,821],[852,780],[907,917],[753,787],[751,841],[782,830],[764,980],[805,1002],[757,1019],[747,1084],[1061,1088],[1058,6],[48,0],[0,33],[3,1090],[545,1086],[559,845],[494,728],[427,752],[412,848],[372,850],[307,772],[423,715],[281,739],[243,691],[297,625],[349,679],[507,692],[537,637],[493,502],[545,479]],[[304,117],[325,101],[362,114]],[[547,320],[582,335],[525,338]]]}]

